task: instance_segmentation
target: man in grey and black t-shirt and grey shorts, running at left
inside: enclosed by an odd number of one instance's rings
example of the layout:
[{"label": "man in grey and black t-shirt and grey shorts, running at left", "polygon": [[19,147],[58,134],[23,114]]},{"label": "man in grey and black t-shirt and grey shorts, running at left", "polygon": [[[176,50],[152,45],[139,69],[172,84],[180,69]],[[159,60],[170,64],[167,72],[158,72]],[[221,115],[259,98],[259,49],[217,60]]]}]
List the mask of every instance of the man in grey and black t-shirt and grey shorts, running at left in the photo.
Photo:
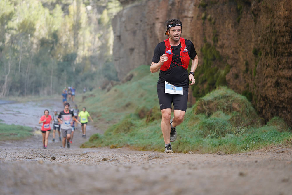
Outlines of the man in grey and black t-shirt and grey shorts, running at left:
[{"label": "man in grey and black t-shirt and grey shorts, running at left", "polygon": [[[77,121],[74,117],[73,111],[69,110],[70,104],[67,102],[64,105],[64,110],[60,112],[58,121],[61,123],[61,130],[63,135],[63,148],[65,148],[67,139],[67,148],[70,148],[70,137],[72,132],[73,120]],[[77,121],[80,123],[79,121]],[[81,124],[81,123],[80,123]]]}]

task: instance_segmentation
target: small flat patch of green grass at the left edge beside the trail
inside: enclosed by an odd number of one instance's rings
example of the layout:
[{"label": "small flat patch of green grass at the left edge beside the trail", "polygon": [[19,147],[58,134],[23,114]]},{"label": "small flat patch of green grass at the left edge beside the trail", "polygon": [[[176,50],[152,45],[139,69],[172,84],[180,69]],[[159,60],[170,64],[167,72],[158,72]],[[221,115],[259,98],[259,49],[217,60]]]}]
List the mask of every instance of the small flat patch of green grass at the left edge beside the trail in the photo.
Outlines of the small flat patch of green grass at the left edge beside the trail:
[{"label": "small flat patch of green grass at the left edge beside the trail", "polygon": [[25,139],[32,134],[31,127],[0,123],[0,141]]}]

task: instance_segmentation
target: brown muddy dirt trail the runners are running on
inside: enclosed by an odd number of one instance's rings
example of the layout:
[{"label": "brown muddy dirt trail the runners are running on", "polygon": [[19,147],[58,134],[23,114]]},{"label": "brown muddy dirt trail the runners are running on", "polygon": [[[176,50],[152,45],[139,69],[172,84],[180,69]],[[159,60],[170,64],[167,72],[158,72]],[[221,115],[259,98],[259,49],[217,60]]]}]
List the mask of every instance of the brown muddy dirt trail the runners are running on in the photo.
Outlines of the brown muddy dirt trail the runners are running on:
[{"label": "brown muddy dirt trail the runners are running on", "polygon": [[69,149],[52,142],[52,133],[42,149],[39,117],[61,105],[0,105],[0,119],[35,130],[29,139],[0,142],[0,194],[291,194],[292,149],[281,147],[234,155],[81,149],[102,133],[89,123],[87,138],[79,126]]}]

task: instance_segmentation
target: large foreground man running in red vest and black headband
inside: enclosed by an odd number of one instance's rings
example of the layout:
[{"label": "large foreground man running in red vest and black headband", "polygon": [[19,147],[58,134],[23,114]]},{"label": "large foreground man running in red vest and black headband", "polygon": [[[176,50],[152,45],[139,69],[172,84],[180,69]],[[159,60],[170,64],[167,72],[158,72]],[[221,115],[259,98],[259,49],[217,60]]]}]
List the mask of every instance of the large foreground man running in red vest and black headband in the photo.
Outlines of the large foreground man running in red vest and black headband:
[{"label": "large foreground man running in red vest and black headband", "polygon": [[[173,153],[170,142],[176,139],[176,126],[184,120],[187,110],[188,85],[195,83],[194,72],[198,65],[198,56],[193,43],[181,38],[182,22],[170,19],[166,23],[169,38],[157,44],[154,50],[151,73],[159,72],[157,94],[161,110],[161,131],[165,143],[165,151]],[[187,68],[192,59],[191,71]],[[171,103],[174,117],[171,120]]]}]

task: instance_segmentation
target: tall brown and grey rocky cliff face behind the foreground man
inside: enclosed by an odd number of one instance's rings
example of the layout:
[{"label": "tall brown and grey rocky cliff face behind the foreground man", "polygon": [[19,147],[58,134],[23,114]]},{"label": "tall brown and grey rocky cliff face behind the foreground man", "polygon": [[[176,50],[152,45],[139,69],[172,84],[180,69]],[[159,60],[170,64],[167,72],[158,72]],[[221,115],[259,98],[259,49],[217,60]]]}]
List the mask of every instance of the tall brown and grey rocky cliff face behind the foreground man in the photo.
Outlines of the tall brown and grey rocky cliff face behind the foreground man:
[{"label": "tall brown and grey rocky cliff face behind the foreground man", "polygon": [[[120,79],[133,68],[151,64],[156,44],[167,38],[166,21],[179,18],[182,37],[194,43],[199,66],[206,68],[209,53],[217,52],[208,70],[198,69],[197,86],[212,88],[212,81],[201,79],[206,73],[216,77],[213,86],[220,84],[221,78],[228,87],[246,95],[265,120],[280,116],[292,126],[292,1],[120,2],[124,8],[112,21]],[[205,51],[207,46],[212,50]],[[212,68],[221,71],[221,76],[212,75]]]}]

